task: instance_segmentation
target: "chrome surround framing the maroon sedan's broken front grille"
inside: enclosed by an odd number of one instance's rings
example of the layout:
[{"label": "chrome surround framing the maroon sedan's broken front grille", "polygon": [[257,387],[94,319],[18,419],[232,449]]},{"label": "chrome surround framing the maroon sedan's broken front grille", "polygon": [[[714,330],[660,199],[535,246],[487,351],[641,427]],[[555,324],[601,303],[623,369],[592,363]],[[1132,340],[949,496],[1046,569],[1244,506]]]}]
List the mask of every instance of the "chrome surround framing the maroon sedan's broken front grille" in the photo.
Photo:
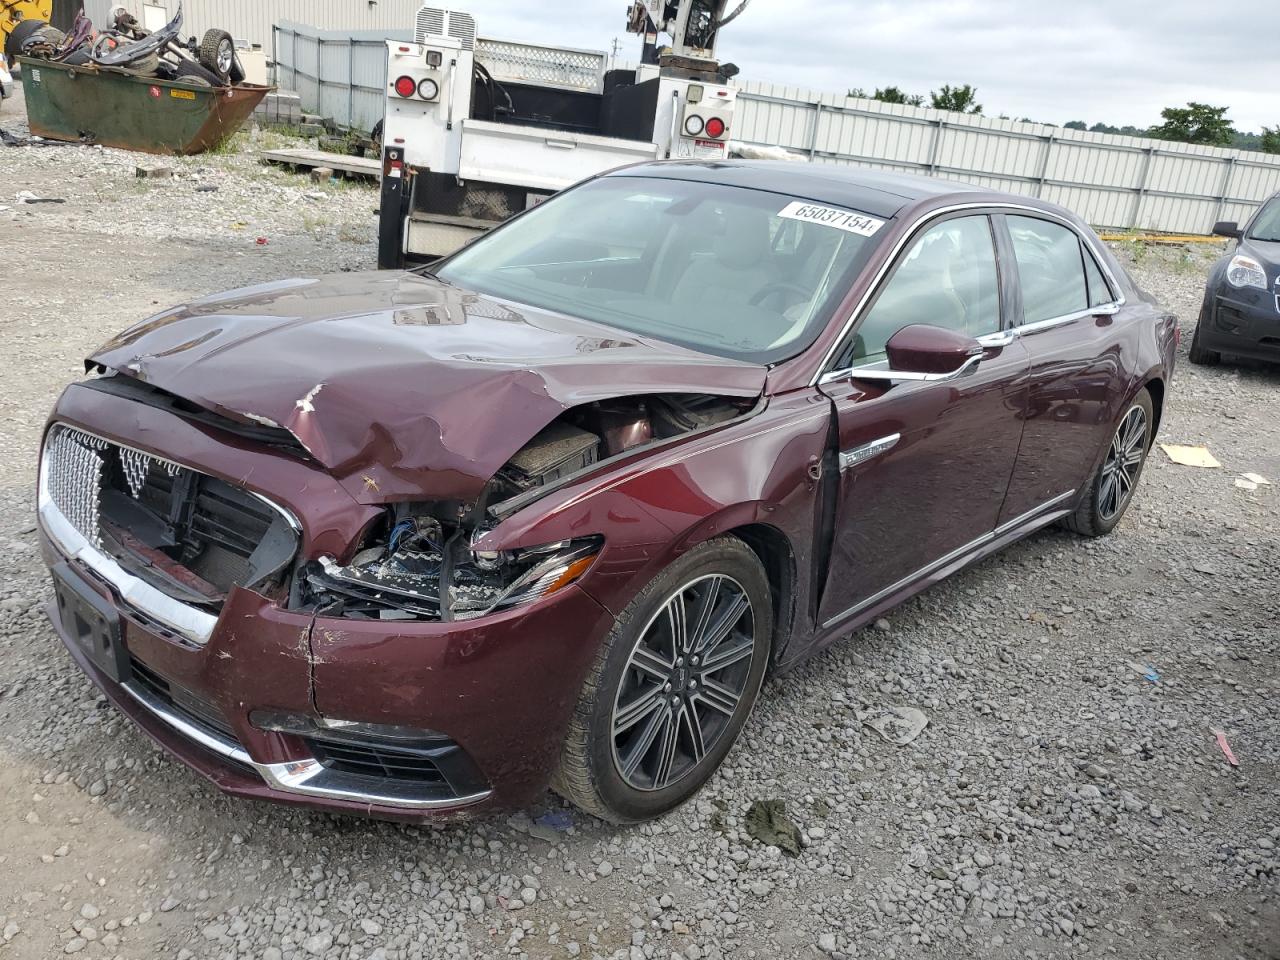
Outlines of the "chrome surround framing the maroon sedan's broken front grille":
[{"label": "chrome surround framing the maroon sedan's broken front grille", "polygon": [[[58,421],[49,428],[52,433],[56,429],[69,429],[84,434],[86,436],[93,436],[95,439],[102,440],[118,447],[124,451],[133,451],[134,453],[141,453],[146,457],[151,457],[161,463],[173,463],[183,470],[191,470],[197,474],[204,474],[205,471],[197,467],[187,466],[184,463],[177,463],[172,460],[164,457],[157,457],[147,451],[140,451],[136,447],[131,447],[125,443],[113,440],[109,436],[100,436],[99,434],[84,430],[74,424],[68,424],[64,421]],[[206,476],[209,476],[206,474]],[[252,492],[250,492],[252,493]],[[289,524],[289,526],[298,534],[302,532],[302,526],[297,517],[284,507],[278,503],[271,502],[266,497],[253,493],[259,500],[269,506],[276,513],[279,513]],[[183,639],[196,644],[197,646],[205,646],[209,639],[214,634],[214,628],[218,626],[218,616],[200,609],[198,607],[192,607],[188,603],[177,600],[163,590],[156,589],[141,577],[136,577],[129,573],[124,567],[115,562],[113,557],[102,553],[97,547],[88,541],[88,539],[81,534],[67,516],[58,508],[54,503],[52,497],[49,494],[49,444],[47,434],[46,443],[40,454],[40,481],[36,494],[36,511],[40,518],[40,526],[45,531],[45,535],[50,539],[54,547],[68,559],[78,561],[93,571],[100,579],[106,581],[116,594],[120,596],[120,602],[127,607],[133,608],[143,617],[152,620],[157,623],[164,625],[174,634],[178,634]]]}]

